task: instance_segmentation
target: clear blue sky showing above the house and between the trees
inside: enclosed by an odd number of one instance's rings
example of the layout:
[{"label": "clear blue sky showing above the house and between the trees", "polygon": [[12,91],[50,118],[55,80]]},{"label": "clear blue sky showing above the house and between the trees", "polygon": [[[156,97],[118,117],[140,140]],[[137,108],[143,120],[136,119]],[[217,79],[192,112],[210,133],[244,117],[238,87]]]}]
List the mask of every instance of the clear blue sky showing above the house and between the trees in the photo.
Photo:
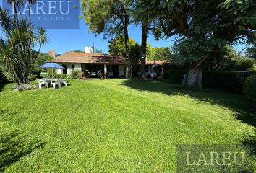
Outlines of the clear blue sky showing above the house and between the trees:
[{"label": "clear blue sky showing above the house and between the trees", "polygon": [[[0,0],[0,4],[5,0]],[[79,29],[48,29],[49,42],[43,45],[42,52],[47,53],[48,50],[56,50],[56,53],[64,53],[70,50],[84,50],[85,46],[92,46],[95,43],[95,48],[108,53],[108,40],[103,40],[103,35],[95,36],[94,33],[88,31],[88,25],[85,25],[85,20],[80,20]],[[0,34],[1,35],[1,34]],[[141,30],[140,26],[129,27],[129,37],[140,43]],[[151,47],[171,46],[174,43],[174,37],[168,40],[156,41],[153,35],[148,35],[148,43]],[[236,45],[237,50],[242,50],[243,45]]]}]

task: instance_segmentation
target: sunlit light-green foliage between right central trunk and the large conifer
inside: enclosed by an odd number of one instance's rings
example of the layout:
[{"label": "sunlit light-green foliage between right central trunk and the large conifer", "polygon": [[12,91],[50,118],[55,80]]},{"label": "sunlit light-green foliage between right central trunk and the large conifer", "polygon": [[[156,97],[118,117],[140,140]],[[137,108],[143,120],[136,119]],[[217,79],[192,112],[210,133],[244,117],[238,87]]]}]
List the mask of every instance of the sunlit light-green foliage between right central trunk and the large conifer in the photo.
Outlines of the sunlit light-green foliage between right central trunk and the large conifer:
[{"label": "sunlit light-green foliage between right central trunk and the large conifer", "polygon": [[173,58],[170,47],[148,48],[147,51],[149,60],[171,60]]}]

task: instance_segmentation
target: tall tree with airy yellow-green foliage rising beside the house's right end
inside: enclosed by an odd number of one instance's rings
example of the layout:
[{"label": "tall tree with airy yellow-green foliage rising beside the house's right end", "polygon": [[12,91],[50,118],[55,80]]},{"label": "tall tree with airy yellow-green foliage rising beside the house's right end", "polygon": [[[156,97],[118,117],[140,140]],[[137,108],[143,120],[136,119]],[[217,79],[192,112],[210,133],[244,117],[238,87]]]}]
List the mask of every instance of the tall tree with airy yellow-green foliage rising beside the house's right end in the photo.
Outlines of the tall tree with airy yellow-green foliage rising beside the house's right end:
[{"label": "tall tree with airy yellow-green foliage rising beside the house's right end", "polygon": [[90,25],[90,31],[96,34],[104,33],[105,38],[124,35],[127,60],[129,60],[130,3],[129,0],[82,0],[82,12],[85,22]]}]

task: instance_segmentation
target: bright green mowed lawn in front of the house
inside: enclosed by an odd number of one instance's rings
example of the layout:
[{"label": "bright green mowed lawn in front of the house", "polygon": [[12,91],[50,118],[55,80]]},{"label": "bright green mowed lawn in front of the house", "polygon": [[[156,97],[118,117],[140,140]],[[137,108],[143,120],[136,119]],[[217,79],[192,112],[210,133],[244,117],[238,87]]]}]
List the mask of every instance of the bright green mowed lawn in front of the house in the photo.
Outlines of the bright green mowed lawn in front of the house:
[{"label": "bright green mowed lawn in front of the house", "polygon": [[177,144],[255,144],[255,103],[165,81],[0,92],[5,172],[176,172]]}]

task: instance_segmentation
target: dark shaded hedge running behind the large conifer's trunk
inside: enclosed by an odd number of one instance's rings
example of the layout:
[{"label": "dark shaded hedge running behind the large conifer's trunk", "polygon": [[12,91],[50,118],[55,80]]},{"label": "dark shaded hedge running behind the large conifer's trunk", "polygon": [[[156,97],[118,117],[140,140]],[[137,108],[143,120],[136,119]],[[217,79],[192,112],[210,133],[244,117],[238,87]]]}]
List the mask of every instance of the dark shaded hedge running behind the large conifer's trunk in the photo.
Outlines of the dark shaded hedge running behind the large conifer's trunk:
[{"label": "dark shaded hedge running behind the large conifer's trunk", "polygon": [[[182,84],[182,79],[187,71],[169,71],[169,80],[172,84]],[[221,89],[242,94],[244,81],[255,72],[239,71],[203,71],[202,85],[204,87]]]}]

